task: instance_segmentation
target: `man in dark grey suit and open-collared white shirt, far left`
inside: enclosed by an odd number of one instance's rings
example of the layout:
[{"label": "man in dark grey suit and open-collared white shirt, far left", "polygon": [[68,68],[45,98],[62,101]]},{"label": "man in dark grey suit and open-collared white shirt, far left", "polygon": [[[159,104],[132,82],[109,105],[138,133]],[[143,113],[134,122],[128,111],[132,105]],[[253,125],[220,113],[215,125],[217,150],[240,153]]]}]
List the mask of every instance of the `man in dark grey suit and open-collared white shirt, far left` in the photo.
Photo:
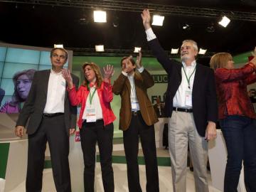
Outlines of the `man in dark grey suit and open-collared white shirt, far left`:
[{"label": "man in dark grey suit and open-collared white shirt, far left", "polygon": [[[41,191],[46,142],[50,148],[53,178],[57,191],[71,191],[68,164],[69,135],[75,132],[77,108],[70,105],[67,83],[62,76],[68,51],[53,48],[51,70],[37,71],[28,98],[16,122],[16,135],[23,136],[28,121],[28,168],[26,191]],[[78,78],[73,75],[78,86]]]}]

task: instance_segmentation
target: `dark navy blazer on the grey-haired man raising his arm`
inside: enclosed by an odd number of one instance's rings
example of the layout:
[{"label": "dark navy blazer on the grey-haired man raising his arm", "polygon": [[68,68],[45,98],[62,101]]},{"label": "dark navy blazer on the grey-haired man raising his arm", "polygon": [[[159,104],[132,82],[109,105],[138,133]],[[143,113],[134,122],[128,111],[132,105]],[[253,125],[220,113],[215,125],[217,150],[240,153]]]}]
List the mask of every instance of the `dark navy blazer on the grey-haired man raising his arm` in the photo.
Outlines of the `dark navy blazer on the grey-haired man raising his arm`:
[{"label": "dark navy blazer on the grey-haired man raising his arm", "polygon": [[[171,117],[174,95],[179,85],[181,85],[182,63],[169,59],[163,48],[161,48],[157,38],[149,41],[149,46],[168,74],[165,111],[166,116]],[[196,73],[193,82],[192,105],[196,129],[198,130],[198,134],[204,137],[208,121],[217,122],[218,105],[213,70],[198,63],[196,64]]]}]

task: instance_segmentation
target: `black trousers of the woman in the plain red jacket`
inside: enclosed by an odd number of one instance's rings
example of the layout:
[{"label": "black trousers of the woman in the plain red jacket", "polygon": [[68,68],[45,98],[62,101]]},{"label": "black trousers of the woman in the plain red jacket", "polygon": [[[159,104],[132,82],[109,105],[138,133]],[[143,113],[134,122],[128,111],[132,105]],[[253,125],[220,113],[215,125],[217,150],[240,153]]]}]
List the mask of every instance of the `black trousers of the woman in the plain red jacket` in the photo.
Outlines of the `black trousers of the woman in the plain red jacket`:
[{"label": "black trousers of the woman in the plain red jacket", "polygon": [[80,139],[85,164],[85,192],[94,192],[96,142],[100,150],[100,166],[104,191],[114,192],[114,174],[112,169],[113,134],[113,124],[107,124],[104,127],[103,120],[83,122],[82,124]]}]

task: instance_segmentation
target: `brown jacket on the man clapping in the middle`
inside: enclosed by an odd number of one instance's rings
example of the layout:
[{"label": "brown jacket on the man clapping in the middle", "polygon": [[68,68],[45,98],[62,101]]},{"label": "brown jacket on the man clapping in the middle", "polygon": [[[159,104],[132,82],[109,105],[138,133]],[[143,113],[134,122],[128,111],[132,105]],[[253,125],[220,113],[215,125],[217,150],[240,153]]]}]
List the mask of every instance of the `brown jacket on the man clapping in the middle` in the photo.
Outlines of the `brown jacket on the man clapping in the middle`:
[{"label": "brown jacket on the man clapping in the middle", "polygon": [[[149,72],[144,69],[142,73],[135,71],[134,85],[136,89],[137,100],[139,102],[139,110],[141,111],[142,118],[147,125],[152,125],[158,122],[154,108],[149,100],[146,90],[154,85],[154,79]],[[119,129],[123,131],[129,128],[132,119],[131,108],[131,85],[129,79],[122,73],[117,80],[114,81],[112,88],[115,95],[121,96],[121,109],[119,113]]]}]

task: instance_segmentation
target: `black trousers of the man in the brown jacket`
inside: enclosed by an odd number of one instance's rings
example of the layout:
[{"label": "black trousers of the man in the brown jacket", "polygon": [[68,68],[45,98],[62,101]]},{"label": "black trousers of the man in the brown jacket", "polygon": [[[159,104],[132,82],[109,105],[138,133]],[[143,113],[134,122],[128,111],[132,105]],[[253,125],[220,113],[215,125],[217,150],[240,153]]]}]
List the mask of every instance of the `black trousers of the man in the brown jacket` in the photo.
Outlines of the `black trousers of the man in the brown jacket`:
[{"label": "black trousers of the man in the brown jacket", "polygon": [[156,159],[154,124],[146,125],[142,115],[132,115],[129,129],[124,131],[124,151],[127,159],[127,177],[130,192],[141,192],[139,184],[139,137],[146,164],[146,191],[159,191],[159,175]]}]

